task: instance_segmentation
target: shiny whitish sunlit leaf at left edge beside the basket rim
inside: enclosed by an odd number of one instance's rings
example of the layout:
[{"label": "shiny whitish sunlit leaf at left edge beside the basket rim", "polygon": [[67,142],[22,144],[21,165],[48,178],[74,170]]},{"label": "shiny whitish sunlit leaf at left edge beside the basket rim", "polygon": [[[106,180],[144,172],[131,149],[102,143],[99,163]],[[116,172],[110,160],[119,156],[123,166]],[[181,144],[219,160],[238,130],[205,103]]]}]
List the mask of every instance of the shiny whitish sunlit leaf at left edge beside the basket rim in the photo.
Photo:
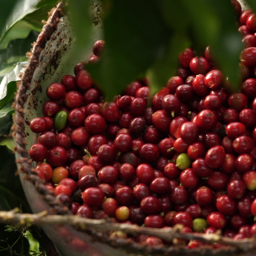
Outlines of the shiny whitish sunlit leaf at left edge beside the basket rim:
[{"label": "shiny whitish sunlit leaf at left edge beside the basket rim", "polygon": [[0,83],[0,109],[3,108],[8,102],[13,100],[14,92],[16,92],[16,82],[20,80],[20,72],[23,72],[27,61],[17,63],[13,71],[4,76],[0,76],[2,81]]}]

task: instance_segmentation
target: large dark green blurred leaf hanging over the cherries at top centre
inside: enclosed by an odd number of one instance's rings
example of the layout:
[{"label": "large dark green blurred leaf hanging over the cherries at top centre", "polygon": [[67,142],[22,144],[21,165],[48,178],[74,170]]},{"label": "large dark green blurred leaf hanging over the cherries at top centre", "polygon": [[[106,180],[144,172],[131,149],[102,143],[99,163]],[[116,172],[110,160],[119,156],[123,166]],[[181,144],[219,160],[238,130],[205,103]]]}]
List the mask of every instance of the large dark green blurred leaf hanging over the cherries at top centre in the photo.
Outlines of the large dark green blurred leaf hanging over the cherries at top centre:
[{"label": "large dark green blurred leaf hanging over the cherries at top centre", "polygon": [[160,2],[105,1],[105,48],[88,71],[109,100],[167,52],[172,35],[161,16]]}]

